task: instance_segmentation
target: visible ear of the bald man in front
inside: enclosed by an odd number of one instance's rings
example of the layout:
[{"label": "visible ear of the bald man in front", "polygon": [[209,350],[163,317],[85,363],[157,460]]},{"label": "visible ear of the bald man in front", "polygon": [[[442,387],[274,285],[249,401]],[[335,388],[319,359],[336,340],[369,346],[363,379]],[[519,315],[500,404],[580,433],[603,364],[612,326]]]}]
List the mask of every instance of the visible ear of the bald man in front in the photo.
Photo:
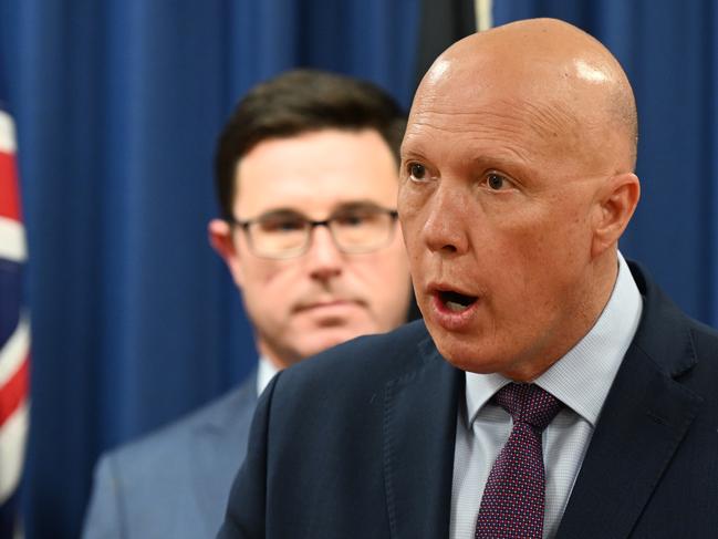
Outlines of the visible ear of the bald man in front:
[{"label": "visible ear of the bald man in front", "polygon": [[597,257],[614,246],[628,226],[641,198],[641,182],[633,173],[610,178],[599,193],[591,253]]}]

